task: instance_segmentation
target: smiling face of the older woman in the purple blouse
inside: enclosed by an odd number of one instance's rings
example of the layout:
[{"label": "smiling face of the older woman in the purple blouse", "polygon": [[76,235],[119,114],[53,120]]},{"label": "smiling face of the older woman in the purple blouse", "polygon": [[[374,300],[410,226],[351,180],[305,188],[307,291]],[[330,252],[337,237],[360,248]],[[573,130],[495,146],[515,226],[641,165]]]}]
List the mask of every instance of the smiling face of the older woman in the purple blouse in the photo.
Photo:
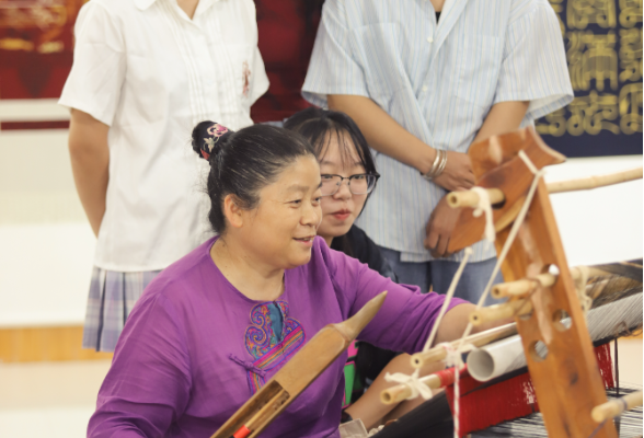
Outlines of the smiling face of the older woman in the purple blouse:
[{"label": "smiling face of the older woman in the purple blouse", "polygon": [[309,263],[322,218],[320,166],[299,158],[260,193],[260,205],[242,212],[238,238],[254,261],[279,269]]}]

